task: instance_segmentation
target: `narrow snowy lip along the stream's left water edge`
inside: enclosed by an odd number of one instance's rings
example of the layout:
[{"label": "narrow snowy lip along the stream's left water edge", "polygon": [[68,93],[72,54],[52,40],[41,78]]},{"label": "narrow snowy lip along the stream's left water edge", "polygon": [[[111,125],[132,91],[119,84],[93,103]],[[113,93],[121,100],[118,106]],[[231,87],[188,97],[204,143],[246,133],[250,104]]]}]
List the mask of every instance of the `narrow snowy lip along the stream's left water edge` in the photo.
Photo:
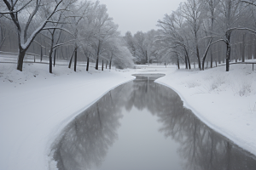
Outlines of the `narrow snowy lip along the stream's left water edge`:
[{"label": "narrow snowy lip along the stream's left water edge", "polygon": [[[133,76],[133,75],[131,75]],[[49,134],[49,141],[48,144],[46,145],[46,154],[45,154],[45,165],[49,166],[49,170],[58,170],[56,168],[56,162],[53,160],[52,156],[52,145],[55,144],[55,142],[58,142],[58,140],[61,138],[61,133],[65,130],[65,127],[67,126],[68,123],[72,122],[73,119],[76,116],[79,116],[83,111],[87,110],[91,105],[94,105],[99,99],[101,99],[105,94],[108,94],[109,91],[113,90],[114,88],[119,87],[122,84],[125,84],[126,82],[131,82],[134,80],[136,77],[133,76],[133,78],[121,82],[118,85],[113,86],[112,88],[106,89],[104,94],[101,94],[100,96],[97,96],[96,99],[92,100],[89,104],[84,105],[83,108],[80,108],[78,111],[75,111],[71,116],[68,116],[66,119],[64,119],[62,122],[60,122],[58,125],[55,126],[54,129],[52,129],[52,132]]]}]

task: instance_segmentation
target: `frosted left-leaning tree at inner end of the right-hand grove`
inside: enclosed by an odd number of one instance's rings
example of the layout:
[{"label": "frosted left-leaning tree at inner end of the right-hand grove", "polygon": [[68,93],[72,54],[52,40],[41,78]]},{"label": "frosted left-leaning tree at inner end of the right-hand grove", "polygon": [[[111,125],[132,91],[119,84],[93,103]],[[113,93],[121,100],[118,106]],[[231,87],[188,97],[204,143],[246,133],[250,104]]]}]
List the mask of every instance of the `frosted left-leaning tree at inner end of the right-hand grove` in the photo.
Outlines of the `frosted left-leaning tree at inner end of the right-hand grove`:
[{"label": "frosted left-leaning tree at inner end of the right-hand grove", "polygon": [[163,20],[158,20],[160,27],[160,35],[158,36],[158,42],[161,43],[161,50],[169,57],[173,57],[172,60],[182,59],[186,65],[186,69],[190,69],[190,55],[195,54],[194,44],[191,43],[190,36],[191,31],[188,24],[186,24],[181,11],[172,12],[172,14],[166,14]]}]

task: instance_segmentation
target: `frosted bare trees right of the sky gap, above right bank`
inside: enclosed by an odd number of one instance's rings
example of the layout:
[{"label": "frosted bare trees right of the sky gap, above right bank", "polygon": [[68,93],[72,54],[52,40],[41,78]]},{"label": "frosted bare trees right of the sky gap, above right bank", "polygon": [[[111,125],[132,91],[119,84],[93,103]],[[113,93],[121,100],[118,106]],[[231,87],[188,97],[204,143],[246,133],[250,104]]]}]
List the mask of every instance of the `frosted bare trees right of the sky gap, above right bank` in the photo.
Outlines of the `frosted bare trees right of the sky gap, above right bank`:
[{"label": "frosted bare trees right of the sky gap, above right bank", "polygon": [[256,21],[254,0],[187,0],[176,11],[158,20],[159,30],[125,41],[137,64],[182,63],[187,69],[204,70],[230,62],[255,59]]}]

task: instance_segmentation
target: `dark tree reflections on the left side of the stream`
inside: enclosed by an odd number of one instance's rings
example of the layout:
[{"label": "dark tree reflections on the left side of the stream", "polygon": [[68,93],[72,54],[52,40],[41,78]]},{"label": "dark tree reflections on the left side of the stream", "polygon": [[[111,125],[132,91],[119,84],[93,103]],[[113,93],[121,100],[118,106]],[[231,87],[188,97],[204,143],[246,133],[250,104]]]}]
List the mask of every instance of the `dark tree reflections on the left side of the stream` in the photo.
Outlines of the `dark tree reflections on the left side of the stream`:
[{"label": "dark tree reflections on the left side of the stream", "polygon": [[118,138],[116,130],[122,117],[119,103],[125,103],[118,98],[125,88],[129,86],[104,95],[67,125],[52,148],[58,169],[90,169],[102,163],[108,147]]}]

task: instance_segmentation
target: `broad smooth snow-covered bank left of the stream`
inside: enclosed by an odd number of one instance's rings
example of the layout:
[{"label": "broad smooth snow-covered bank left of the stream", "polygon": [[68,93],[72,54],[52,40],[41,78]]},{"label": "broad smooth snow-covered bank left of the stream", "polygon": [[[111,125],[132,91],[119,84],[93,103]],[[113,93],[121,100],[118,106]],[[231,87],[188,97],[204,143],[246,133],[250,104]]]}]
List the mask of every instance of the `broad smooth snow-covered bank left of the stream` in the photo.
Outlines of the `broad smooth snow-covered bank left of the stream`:
[{"label": "broad smooth snow-covered bank left of the stream", "polygon": [[58,66],[1,64],[0,169],[49,169],[49,146],[67,122],[108,90],[134,77],[121,71],[90,73]]}]

